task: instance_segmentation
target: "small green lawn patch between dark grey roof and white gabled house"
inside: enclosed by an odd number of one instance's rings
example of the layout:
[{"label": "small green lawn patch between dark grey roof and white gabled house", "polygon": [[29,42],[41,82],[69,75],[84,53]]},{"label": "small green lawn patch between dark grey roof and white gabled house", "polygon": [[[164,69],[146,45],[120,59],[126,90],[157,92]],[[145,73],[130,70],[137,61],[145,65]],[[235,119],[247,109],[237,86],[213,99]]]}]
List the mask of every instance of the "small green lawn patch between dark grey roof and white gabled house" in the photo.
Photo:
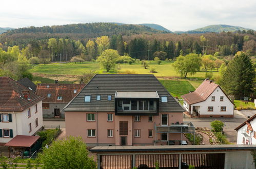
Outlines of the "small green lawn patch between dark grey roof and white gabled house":
[{"label": "small green lawn patch between dark grey roof and white gabled house", "polygon": [[189,91],[194,91],[194,87],[189,81],[185,80],[159,80],[168,92],[174,96],[181,98],[181,95],[187,94]]}]

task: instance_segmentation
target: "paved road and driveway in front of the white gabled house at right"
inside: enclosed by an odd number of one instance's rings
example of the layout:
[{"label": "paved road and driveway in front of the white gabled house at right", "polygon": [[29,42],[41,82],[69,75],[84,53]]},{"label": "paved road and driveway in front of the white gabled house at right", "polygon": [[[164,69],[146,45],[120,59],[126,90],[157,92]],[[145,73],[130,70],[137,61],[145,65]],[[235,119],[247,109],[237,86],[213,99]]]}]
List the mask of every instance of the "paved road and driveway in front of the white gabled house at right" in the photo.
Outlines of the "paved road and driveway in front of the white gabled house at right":
[{"label": "paved road and driveway in front of the white gabled house at right", "polygon": [[211,124],[210,124],[211,121],[214,121],[214,120],[223,121],[225,123],[223,130],[227,136],[227,139],[232,143],[237,143],[237,131],[235,131],[234,129],[248,119],[244,113],[247,113],[250,115],[253,113],[255,114],[255,110],[254,111],[234,110],[234,118],[190,118],[189,116],[185,115],[184,121],[191,121],[195,127],[209,128],[209,129],[211,129]]}]

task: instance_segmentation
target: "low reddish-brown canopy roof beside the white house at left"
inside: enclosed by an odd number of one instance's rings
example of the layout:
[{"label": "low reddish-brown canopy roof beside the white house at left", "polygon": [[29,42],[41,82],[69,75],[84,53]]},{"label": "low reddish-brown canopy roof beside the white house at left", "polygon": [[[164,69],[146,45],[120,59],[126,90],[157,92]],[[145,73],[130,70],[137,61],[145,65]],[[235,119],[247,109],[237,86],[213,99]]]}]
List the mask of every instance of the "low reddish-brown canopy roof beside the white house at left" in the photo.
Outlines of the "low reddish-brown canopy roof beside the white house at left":
[{"label": "low reddish-brown canopy roof beside the white house at left", "polygon": [[11,139],[5,146],[31,147],[40,136],[23,136],[17,135]]}]

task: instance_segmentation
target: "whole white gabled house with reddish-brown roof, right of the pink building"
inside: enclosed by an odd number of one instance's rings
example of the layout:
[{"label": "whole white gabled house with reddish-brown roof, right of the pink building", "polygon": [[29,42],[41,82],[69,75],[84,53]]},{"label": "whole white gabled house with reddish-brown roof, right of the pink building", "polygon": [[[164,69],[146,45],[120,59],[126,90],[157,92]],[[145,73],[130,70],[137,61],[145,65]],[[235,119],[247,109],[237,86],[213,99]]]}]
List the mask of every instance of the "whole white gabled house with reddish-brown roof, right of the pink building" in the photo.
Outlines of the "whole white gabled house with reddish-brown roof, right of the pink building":
[{"label": "whole white gabled house with reddish-brown roof, right of the pink building", "polygon": [[188,114],[198,117],[233,117],[234,104],[221,87],[205,79],[194,91],[181,96]]}]

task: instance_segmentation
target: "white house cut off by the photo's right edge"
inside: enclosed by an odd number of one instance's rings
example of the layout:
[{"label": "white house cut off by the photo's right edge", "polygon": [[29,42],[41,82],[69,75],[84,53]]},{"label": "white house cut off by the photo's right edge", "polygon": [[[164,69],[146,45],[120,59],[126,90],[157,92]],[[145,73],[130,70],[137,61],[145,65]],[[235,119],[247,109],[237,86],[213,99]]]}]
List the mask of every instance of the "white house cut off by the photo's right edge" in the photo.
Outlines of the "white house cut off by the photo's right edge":
[{"label": "white house cut off by the photo's right edge", "polygon": [[234,130],[238,132],[237,144],[256,144],[256,114]]}]

